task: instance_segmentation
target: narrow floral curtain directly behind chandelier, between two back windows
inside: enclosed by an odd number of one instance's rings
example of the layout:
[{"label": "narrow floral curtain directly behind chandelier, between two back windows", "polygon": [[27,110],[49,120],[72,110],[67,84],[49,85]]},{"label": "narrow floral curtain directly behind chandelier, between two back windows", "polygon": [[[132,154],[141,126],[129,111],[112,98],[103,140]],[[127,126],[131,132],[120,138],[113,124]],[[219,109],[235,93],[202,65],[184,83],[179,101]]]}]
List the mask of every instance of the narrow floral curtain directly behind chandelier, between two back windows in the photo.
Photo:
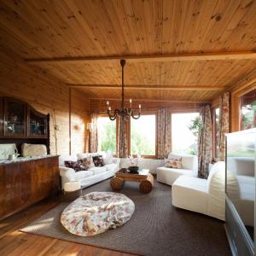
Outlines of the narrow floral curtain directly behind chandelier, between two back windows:
[{"label": "narrow floral curtain directly behind chandelier, between two back windows", "polygon": [[119,158],[126,158],[128,157],[128,138],[127,138],[127,126],[128,120],[119,117],[118,119],[118,157]]}]

